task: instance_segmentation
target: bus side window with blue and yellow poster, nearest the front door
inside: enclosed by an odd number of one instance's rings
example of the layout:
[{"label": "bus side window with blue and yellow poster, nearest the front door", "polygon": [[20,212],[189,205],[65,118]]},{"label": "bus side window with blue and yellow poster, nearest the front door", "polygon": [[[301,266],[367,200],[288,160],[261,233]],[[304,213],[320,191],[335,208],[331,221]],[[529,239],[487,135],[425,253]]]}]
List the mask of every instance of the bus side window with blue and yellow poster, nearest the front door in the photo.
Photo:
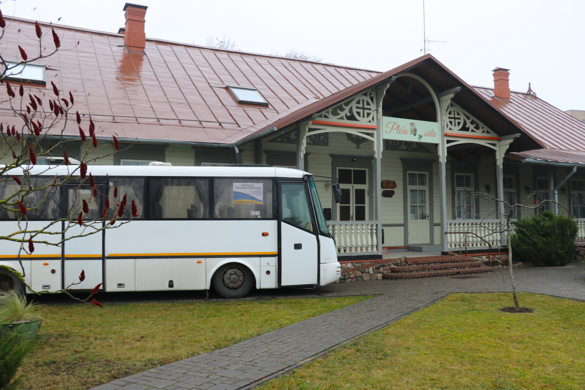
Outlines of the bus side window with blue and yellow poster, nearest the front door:
[{"label": "bus side window with blue and yellow poster, nearest the front door", "polygon": [[272,180],[214,179],[214,218],[273,218]]}]

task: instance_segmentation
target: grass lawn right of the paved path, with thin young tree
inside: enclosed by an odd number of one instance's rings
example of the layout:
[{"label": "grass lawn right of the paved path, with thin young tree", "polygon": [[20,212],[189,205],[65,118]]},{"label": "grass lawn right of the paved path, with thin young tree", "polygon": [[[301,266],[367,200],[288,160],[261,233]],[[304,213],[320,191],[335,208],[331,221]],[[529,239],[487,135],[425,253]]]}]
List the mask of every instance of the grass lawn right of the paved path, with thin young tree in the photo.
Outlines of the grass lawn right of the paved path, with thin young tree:
[{"label": "grass lawn right of the paved path, with thin young tree", "polygon": [[584,389],[585,303],[453,294],[261,389]]}]

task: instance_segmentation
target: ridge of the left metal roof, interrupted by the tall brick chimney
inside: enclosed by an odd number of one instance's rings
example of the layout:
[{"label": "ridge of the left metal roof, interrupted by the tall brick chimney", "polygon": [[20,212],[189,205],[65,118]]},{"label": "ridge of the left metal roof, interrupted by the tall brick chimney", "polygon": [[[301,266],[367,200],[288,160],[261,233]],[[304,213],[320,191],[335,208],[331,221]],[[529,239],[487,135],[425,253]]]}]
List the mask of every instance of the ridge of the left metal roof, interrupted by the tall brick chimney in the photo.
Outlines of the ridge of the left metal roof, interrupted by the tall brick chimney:
[{"label": "ridge of the left metal roof, interrupted by the tall brick chimney", "polygon": [[[18,20],[19,22],[28,22],[28,23],[31,23],[31,24],[35,24],[35,22],[39,22],[39,25],[47,26],[47,27],[59,27],[61,29],[77,30],[77,31],[88,32],[88,33],[106,34],[106,35],[111,35],[111,36],[116,36],[116,37],[123,37],[124,36],[124,34],[112,33],[112,32],[108,32],[108,31],[85,29],[84,27],[77,27],[77,26],[57,25],[57,24],[54,24],[52,22],[42,22],[40,20],[19,18],[17,16],[8,16],[8,15],[2,15],[2,16],[5,19]],[[320,63],[320,62],[311,61],[311,60],[300,60],[298,58],[290,58],[290,57],[284,57],[284,56],[275,56],[274,54],[253,53],[252,51],[233,50],[233,49],[221,49],[219,47],[209,47],[209,46],[204,46],[204,45],[201,45],[201,44],[184,43],[184,42],[177,42],[177,41],[173,41],[173,40],[166,40],[166,39],[159,39],[159,38],[149,38],[149,37],[146,37],[146,40],[147,41],[150,41],[150,42],[171,43],[171,44],[177,44],[177,45],[180,45],[180,46],[198,47],[199,49],[209,49],[209,50],[215,50],[215,51],[226,51],[228,53],[248,54],[250,56],[270,57],[270,58],[283,58],[285,60],[292,60],[292,61],[312,63],[312,64],[329,65],[329,66],[337,67],[337,68],[362,70],[362,71],[374,72],[374,73],[378,73],[378,74],[384,73],[383,71],[379,71],[379,70],[359,68],[359,67],[353,67],[353,66],[349,66],[349,65],[338,65],[338,64],[332,64],[332,63]]]}]

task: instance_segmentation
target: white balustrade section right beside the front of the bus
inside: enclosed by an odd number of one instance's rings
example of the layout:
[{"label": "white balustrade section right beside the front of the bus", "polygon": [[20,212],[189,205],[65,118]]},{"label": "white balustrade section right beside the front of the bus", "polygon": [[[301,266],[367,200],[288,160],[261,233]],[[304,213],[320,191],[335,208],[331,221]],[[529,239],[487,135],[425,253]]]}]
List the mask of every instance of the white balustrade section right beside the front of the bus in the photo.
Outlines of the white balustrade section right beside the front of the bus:
[{"label": "white balustrade section right beside the front of the bus", "polygon": [[366,254],[378,250],[376,221],[328,221],[329,233],[335,239],[340,255]]}]

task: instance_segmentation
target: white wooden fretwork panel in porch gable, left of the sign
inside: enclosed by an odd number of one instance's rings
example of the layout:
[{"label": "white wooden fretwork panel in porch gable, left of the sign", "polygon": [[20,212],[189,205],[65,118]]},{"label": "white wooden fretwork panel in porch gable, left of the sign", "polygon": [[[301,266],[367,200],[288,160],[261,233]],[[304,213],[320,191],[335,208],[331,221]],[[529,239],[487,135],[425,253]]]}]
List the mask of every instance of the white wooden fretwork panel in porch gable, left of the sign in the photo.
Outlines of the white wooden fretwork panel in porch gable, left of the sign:
[{"label": "white wooden fretwork panel in porch gable, left of the sign", "polygon": [[350,120],[361,123],[376,122],[376,100],[374,91],[366,91],[362,95],[336,105],[319,114],[319,119]]}]

